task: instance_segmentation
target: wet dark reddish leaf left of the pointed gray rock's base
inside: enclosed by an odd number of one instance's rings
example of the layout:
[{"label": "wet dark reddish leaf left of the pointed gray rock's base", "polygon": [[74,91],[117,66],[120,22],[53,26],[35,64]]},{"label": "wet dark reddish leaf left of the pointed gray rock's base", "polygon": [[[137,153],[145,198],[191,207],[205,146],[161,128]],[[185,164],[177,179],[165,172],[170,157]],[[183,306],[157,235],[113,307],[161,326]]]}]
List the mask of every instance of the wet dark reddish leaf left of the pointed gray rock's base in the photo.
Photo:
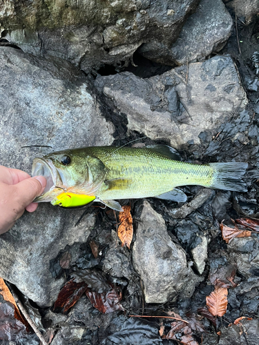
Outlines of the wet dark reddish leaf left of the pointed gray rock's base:
[{"label": "wet dark reddish leaf left of the pointed gray rock's base", "polygon": [[97,293],[88,288],[86,296],[89,298],[91,304],[103,314],[112,313],[113,311],[124,311],[122,304],[122,292],[117,288],[111,288],[108,293]]}]

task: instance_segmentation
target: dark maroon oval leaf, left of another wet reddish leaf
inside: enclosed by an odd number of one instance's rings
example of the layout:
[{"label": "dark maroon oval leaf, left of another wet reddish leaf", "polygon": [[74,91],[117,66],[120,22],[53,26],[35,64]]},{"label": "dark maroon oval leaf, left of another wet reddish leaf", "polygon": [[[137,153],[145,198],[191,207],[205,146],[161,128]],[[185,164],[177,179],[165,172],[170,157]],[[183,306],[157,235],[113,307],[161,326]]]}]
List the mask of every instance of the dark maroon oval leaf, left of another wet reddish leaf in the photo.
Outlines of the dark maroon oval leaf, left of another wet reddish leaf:
[{"label": "dark maroon oval leaf, left of another wet reddish leaf", "polygon": [[71,279],[66,285],[61,289],[59,295],[57,296],[57,301],[54,304],[53,311],[66,313],[69,308],[71,308],[75,302],[83,295],[86,291],[87,284],[85,282],[76,283]]}]

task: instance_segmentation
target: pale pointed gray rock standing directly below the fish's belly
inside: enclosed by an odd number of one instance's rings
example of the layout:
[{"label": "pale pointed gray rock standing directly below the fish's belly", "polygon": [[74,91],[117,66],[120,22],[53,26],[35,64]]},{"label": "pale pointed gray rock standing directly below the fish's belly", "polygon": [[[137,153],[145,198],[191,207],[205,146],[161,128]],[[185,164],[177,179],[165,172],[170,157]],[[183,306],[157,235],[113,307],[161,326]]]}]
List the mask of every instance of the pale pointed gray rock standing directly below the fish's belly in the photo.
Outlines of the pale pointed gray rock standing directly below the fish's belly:
[{"label": "pale pointed gray rock standing directly below the fish's belly", "polygon": [[199,278],[187,266],[182,248],[169,237],[164,219],[143,202],[133,245],[133,265],[144,282],[146,303],[165,303],[180,293],[191,296]]}]

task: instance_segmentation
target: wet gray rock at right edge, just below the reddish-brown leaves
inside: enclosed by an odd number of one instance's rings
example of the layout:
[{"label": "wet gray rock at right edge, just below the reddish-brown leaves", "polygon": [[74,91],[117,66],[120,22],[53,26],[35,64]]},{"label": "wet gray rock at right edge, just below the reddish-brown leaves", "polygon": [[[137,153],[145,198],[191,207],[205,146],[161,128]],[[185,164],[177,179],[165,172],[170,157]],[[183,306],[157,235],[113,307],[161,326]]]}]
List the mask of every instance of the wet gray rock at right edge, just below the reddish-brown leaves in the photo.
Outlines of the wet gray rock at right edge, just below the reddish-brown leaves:
[{"label": "wet gray rock at right edge, just below the reddish-brown leaves", "polygon": [[234,238],[228,245],[231,262],[235,262],[238,272],[247,279],[257,275],[259,270],[259,239],[255,237]]}]

